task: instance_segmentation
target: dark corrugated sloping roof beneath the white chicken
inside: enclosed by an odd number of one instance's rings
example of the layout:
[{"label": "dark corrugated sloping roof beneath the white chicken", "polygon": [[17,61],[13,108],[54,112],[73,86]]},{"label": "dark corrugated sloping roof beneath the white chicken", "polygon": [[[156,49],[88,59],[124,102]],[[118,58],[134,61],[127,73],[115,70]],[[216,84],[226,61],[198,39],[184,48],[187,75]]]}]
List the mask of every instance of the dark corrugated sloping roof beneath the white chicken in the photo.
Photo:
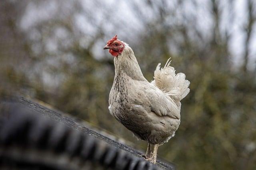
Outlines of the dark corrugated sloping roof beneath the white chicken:
[{"label": "dark corrugated sloping roof beneath the white chicken", "polygon": [[86,126],[80,119],[26,98],[0,103],[0,169],[174,169]]}]

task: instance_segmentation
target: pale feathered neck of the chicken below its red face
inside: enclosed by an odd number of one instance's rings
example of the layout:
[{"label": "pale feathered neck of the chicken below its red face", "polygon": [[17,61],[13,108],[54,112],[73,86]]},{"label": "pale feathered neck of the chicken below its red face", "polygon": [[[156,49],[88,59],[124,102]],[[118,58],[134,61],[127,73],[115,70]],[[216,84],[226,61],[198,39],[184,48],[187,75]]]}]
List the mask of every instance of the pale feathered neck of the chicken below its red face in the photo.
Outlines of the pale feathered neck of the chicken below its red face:
[{"label": "pale feathered neck of the chicken below its red face", "polygon": [[144,78],[138,61],[130,47],[126,47],[118,57],[114,58],[114,65],[114,80],[118,80],[120,76],[129,76],[134,80],[147,81],[146,78]]}]

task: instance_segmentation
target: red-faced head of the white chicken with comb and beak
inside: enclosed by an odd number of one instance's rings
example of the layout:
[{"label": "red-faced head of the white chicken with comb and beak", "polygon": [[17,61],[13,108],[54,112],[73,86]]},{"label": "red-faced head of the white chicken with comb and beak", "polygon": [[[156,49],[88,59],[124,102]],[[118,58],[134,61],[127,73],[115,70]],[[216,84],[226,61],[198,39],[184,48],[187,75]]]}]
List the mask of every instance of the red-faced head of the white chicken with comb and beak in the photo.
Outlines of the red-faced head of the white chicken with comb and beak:
[{"label": "red-faced head of the white chicken with comb and beak", "polygon": [[113,57],[117,57],[124,50],[124,43],[117,39],[117,35],[108,40],[107,45],[103,49],[109,49],[109,53]]}]

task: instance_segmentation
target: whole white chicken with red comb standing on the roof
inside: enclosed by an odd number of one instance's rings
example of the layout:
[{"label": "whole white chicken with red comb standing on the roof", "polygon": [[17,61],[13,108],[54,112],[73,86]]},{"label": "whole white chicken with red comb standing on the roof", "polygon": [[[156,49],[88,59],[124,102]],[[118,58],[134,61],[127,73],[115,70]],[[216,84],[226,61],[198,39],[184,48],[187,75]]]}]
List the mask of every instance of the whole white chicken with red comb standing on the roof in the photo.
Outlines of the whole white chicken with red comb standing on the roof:
[{"label": "whole white chicken with red comb standing on the roof", "polygon": [[[144,78],[134,52],[117,35],[104,49],[114,57],[115,77],[109,94],[109,111],[141,140],[147,141],[146,160],[156,163],[158,146],[174,137],[180,125],[180,101],[189,93],[185,74],[175,74],[170,59],[160,63],[150,83]],[[151,146],[154,145],[153,152]]]}]

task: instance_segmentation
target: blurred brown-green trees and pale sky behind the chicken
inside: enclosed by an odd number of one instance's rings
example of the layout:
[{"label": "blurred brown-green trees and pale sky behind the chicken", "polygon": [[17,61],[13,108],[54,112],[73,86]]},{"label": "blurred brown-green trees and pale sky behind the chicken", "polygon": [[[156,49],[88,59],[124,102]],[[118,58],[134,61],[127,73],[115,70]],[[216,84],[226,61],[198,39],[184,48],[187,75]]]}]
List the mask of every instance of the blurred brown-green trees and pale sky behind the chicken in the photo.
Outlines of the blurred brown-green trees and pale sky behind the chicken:
[{"label": "blurred brown-green trees and pale sky behind the chicken", "polygon": [[178,169],[256,165],[254,0],[1,0],[0,94],[19,92],[146,150],[108,111],[114,35],[148,81],[172,57],[190,80],[176,136],[158,156]]}]

